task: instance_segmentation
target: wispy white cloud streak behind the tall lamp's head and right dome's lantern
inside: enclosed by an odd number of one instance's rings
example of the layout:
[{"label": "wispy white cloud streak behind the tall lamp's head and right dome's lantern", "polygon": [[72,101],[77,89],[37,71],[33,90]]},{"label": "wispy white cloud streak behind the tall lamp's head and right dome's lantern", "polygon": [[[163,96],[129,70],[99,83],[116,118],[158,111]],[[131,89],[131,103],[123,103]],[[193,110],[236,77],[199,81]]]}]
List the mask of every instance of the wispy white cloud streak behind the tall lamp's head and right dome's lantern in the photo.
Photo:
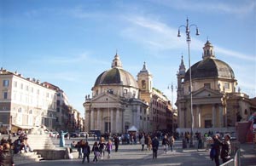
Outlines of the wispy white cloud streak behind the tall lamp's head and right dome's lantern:
[{"label": "wispy white cloud streak behind the tall lamp's head and right dome's lantern", "polygon": [[[142,16],[127,16],[126,20],[130,23],[129,27],[126,27],[121,33],[125,37],[129,37],[148,49],[168,50],[168,49],[180,49],[187,47],[186,34],[181,33],[182,37],[177,37],[177,27],[167,26],[166,24],[150,20]],[[183,29],[181,29],[183,30]],[[196,51],[202,51],[202,46],[205,42],[196,38],[192,38],[193,47],[191,49]],[[256,55],[241,54],[239,52],[216,47],[215,52],[218,54],[224,54],[230,57],[235,57],[241,60],[256,61]]]}]

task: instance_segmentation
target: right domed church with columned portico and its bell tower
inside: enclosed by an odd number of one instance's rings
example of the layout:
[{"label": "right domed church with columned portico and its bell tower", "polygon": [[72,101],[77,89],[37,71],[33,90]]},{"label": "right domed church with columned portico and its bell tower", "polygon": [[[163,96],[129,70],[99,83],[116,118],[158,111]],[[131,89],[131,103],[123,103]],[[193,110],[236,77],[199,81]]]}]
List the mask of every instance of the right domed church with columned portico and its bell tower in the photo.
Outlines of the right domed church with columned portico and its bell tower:
[{"label": "right domed church with columned portico and its bell tower", "polygon": [[[241,93],[239,88],[236,90],[238,83],[232,68],[215,57],[212,43],[208,40],[203,48],[202,60],[189,70],[193,128],[222,131],[227,127],[235,127],[236,122],[246,120],[253,112],[247,94]],[[189,70],[186,72],[182,58],[177,72],[176,102],[180,129],[190,129],[192,125]]]}]

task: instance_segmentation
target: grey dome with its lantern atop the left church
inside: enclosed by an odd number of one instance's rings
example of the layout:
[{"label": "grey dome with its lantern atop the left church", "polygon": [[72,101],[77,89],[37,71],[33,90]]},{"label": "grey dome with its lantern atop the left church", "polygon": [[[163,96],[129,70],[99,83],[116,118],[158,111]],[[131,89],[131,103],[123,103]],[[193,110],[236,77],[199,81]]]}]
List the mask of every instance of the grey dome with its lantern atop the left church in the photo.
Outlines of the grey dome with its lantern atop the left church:
[{"label": "grey dome with its lantern atop the left church", "polygon": [[94,86],[98,85],[122,85],[138,88],[136,79],[131,75],[131,73],[126,72],[121,65],[119,60],[119,55],[116,54],[112,63],[112,68],[108,71],[102,72],[97,78]]}]

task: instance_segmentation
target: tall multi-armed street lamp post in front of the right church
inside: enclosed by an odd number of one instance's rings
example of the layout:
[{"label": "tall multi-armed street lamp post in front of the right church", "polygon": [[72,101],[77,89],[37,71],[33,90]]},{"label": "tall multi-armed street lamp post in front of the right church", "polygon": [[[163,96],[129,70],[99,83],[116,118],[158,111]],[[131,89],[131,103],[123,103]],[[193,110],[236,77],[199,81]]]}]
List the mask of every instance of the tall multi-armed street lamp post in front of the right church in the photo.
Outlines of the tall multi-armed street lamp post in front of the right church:
[{"label": "tall multi-armed street lamp post in front of the right church", "polygon": [[192,100],[192,78],[191,78],[191,66],[190,66],[190,27],[195,26],[196,28],[196,33],[195,35],[199,35],[198,27],[195,24],[189,25],[189,19],[187,18],[187,25],[186,26],[179,26],[178,27],[178,32],[177,32],[177,37],[181,37],[180,35],[180,28],[184,27],[186,28],[186,41],[188,43],[188,49],[189,49],[189,94],[190,94],[190,112],[191,112],[191,135],[190,135],[190,147],[193,147],[193,128],[194,128],[194,113],[193,113],[193,100]]}]

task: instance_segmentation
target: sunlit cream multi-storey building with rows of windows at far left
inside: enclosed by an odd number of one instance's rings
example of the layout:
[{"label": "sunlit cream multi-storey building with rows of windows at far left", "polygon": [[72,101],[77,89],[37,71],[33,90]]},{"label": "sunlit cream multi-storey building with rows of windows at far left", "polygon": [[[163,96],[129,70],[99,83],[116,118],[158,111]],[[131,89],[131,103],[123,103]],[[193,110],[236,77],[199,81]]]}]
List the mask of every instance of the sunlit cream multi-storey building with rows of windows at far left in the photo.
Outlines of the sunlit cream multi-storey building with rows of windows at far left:
[{"label": "sunlit cream multi-storey building with rows of windows at far left", "polygon": [[53,129],[56,114],[56,95],[39,80],[18,73],[0,70],[1,132],[9,129],[32,129],[45,125]]}]

